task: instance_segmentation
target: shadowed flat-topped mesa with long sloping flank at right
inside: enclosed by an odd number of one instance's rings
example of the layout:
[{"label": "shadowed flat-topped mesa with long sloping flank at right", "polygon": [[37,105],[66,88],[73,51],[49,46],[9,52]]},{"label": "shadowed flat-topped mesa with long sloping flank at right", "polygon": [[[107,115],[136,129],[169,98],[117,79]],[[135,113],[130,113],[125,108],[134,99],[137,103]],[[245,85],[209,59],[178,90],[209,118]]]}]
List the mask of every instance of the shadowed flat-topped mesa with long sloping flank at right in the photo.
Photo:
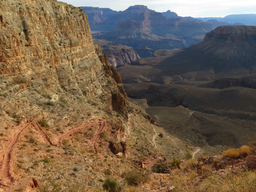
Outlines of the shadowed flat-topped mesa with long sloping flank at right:
[{"label": "shadowed flat-topped mesa with long sloping flank at right", "polygon": [[[132,82],[171,83],[180,80],[212,81],[223,77],[233,77],[256,73],[256,27],[255,26],[219,26],[206,33],[204,40],[194,46],[183,49],[172,56],[155,57],[152,62],[139,59],[131,65],[147,65],[150,74],[140,73],[143,67],[136,70],[136,74],[143,74],[143,78],[136,80],[134,74]],[[126,73],[119,68],[122,81],[131,82]],[[122,70],[122,71],[121,71]],[[145,80],[143,80],[145,79]]]}]

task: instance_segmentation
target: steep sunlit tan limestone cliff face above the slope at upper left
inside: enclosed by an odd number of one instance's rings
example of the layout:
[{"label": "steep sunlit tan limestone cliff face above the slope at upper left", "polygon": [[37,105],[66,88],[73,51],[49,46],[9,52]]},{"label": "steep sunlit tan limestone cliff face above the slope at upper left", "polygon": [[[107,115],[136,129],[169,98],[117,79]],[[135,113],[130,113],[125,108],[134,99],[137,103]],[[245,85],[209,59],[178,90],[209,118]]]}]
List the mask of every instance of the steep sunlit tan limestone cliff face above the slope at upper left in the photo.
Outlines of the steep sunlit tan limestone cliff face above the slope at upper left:
[{"label": "steep sunlit tan limestone cliff face above the slope at upper left", "polygon": [[[54,0],[1,1],[0,33],[1,90],[8,81],[19,96],[49,90],[124,97],[81,8]],[[124,103],[118,109],[125,110]]]}]

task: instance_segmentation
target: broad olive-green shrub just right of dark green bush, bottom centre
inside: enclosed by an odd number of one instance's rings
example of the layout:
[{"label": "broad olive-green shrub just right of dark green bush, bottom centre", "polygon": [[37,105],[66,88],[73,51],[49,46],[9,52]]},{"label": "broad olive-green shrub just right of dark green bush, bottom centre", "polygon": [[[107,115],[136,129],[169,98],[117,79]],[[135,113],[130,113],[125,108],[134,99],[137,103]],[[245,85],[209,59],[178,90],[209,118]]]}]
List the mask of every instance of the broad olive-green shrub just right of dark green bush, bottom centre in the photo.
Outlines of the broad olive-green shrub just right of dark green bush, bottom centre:
[{"label": "broad olive-green shrub just right of dark green bush, bottom centre", "polygon": [[149,176],[145,173],[129,171],[123,174],[128,185],[139,185],[141,183],[146,183],[150,180]]}]

